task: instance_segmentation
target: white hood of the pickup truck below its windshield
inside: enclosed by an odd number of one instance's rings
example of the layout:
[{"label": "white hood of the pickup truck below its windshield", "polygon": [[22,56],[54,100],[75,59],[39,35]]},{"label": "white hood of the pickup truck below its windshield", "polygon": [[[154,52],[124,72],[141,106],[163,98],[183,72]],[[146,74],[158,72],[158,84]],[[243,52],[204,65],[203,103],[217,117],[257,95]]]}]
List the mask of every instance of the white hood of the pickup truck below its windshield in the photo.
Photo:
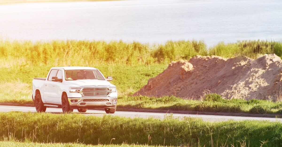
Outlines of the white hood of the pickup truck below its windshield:
[{"label": "white hood of the pickup truck below its windshield", "polygon": [[73,80],[73,81],[65,81],[65,84],[70,85],[71,87],[81,87],[81,86],[110,86],[115,87],[115,85],[111,84],[106,80]]}]

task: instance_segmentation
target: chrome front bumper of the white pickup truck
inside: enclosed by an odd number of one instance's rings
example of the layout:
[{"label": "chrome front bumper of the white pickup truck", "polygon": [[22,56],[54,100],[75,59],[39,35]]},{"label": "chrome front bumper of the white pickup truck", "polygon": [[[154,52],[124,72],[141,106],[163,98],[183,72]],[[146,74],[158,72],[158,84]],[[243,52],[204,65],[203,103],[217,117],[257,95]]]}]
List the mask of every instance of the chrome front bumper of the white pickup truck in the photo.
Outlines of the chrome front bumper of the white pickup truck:
[{"label": "chrome front bumper of the white pickup truck", "polygon": [[[106,99],[107,101],[89,101]],[[70,109],[77,108],[116,108],[117,98],[113,97],[81,97],[81,98],[68,98]],[[75,102],[73,102],[75,101]]]}]

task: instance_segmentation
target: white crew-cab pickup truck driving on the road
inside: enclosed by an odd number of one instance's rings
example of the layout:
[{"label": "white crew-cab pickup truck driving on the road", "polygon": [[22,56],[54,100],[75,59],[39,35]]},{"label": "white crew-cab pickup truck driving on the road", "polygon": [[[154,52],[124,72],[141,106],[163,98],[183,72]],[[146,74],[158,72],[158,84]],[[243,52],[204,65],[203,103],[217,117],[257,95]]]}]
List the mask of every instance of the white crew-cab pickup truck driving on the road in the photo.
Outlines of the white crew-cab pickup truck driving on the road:
[{"label": "white crew-cab pickup truck driving on the road", "polygon": [[47,78],[32,80],[32,100],[37,112],[47,107],[62,108],[63,112],[86,112],[88,108],[116,111],[116,86],[93,67],[52,67]]}]

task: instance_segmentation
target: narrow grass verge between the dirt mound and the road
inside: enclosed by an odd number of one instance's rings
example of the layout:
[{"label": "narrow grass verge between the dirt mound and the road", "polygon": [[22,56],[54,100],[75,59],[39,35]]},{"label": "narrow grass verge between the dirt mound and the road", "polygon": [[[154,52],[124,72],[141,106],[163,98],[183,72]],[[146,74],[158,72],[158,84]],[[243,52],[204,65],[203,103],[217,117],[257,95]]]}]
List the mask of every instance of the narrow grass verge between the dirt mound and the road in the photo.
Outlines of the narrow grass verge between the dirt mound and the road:
[{"label": "narrow grass verge between the dirt mound and the road", "polygon": [[[207,94],[206,97],[219,96]],[[147,96],[120,96],[117,108],[156,109],[156,110],[186,110],[200,112],[229,112],[251,114],[282,114],[282,103],[267,100],[244,99],[204,99],[186,100],[174,96],[160,98]]]}]

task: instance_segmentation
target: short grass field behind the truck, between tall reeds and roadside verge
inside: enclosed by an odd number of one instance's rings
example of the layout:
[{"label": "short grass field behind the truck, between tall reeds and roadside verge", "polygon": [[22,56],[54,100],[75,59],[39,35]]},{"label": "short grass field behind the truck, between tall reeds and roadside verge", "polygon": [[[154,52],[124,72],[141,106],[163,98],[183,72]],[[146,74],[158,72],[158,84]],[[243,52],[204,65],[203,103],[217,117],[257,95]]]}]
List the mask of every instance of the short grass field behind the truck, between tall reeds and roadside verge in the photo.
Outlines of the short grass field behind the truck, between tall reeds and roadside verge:
[{"label": "short grass field behind the truck, between tall reeds and roadside verge", "polygon": [[[98,68],[104,76],[113,76],[112,84],[116,85],[118,94],[133,94],[147,84],[149,78],[157,76],[168,65],[90,65]],[[46,77],[52,66],[14,66],[0,68],[0,96],[17,99],[19,96],[28,97],[35,77]],[[17,85],[15,89],[14,86]],[[7,91],[8,89],[8,91]],[[3,96],[4,95],[4,96]],[[8,98],[10,99],[10,98]]]}]

